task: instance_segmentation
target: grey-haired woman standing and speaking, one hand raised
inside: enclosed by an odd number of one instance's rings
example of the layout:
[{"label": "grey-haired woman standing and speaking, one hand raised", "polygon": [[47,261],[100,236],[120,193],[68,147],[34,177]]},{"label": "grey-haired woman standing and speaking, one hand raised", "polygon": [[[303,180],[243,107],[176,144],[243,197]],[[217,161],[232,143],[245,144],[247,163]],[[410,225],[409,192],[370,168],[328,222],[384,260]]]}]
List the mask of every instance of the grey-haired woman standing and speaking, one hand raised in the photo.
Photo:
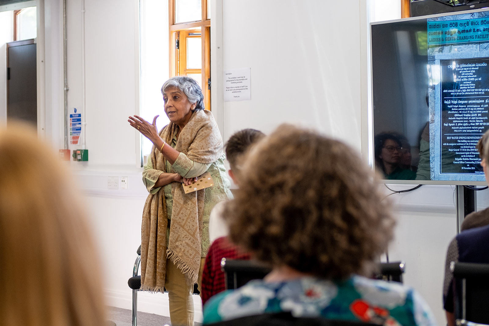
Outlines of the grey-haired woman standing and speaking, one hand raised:
[{"label": "grey-haired woman standing and speaking, one hand raised", "polygon": [[[141,223],[141,290],[168,291],[172,325],[194,325],[192,293],[209,248],[209,213],[232,197],[225,176],[222,137],[202,91],[189,77],[173,77],[161,87],[170,123],[159,133],[134,115],[130,125],[154,144],[144,167],[150,193]],[[213,186],[184,192],[209,172]],[[200,282],[199,282],[200,283]]]}]

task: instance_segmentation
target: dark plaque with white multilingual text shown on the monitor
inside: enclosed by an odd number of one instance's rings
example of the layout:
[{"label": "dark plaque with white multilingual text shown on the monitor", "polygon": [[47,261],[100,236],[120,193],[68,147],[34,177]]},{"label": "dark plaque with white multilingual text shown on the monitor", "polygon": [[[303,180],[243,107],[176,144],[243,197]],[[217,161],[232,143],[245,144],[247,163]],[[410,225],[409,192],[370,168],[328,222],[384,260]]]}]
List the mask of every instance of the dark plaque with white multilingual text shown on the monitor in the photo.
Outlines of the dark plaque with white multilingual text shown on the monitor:
[{"label": "dark plaque with white multilingual text shown on the monitor", "polygon": [[[489,58],[441,60],[440,174],[483,174],[477,141],[487,129]],[[449,177],[449,176],[448,176]]]}]

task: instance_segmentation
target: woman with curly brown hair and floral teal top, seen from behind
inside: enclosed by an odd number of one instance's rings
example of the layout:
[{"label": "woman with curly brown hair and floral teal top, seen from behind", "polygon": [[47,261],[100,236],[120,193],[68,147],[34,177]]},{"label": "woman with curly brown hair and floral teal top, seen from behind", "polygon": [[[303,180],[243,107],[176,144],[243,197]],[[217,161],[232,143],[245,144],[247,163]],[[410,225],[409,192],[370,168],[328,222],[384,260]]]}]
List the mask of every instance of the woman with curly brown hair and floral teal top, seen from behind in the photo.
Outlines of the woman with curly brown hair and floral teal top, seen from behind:
[{"label": "woman with curly brown hair and floral teal top, seen from behind", "polygon": [[342,142],[280,126],[248,153],[240,192],[225,216],[230,239],[272,271],[211,298],[204,324],[290,312],[377,325],[436,325],[413,289],[361,276],[370,274],[395,223],[376,177]]}]

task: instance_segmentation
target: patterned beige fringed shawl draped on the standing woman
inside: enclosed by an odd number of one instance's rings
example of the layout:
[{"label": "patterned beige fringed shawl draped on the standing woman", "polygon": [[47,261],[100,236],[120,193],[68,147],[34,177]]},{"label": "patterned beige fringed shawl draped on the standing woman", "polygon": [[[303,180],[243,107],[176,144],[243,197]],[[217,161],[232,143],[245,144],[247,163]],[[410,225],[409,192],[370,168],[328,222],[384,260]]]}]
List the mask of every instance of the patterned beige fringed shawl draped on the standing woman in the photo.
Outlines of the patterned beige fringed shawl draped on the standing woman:
[{"label": "patterned beige fringed shawl draped on the standing woman", "polygon": [[[170,122],[160,137],[171,143],[178,126]],[[181,130],[175,149],[199,163],[212,163],[222,155],[222,137],[212,113],[199,110]],[[148,174],[159,176],[166,171],[166,159],[153,146],[151,159],[154,170]],[[189,167],[190,168],[190,167]],[[163,187],[149,195],[144,204],[141,223],[141,290],[163,292],[166,260],[170,258],[181,269],[189,285],[197,283],[201,256],[205,189],[185,194],[179,183],[172,183],[173,210],[170,239],[166,247],[166,203]]]}]

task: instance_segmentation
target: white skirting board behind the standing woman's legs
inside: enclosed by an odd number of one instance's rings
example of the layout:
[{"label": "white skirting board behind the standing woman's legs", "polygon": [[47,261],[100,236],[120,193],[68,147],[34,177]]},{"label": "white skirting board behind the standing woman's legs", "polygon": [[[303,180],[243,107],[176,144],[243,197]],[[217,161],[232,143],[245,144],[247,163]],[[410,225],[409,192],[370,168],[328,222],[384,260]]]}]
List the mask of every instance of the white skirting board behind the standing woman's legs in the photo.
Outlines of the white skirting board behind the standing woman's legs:
[{"label": "white skirting board behind the standing woman's legs", "polygon": [[[194,321],[202,323],[202,301],[200,296],[193,295]],[[129,309],[133,308],[133,291],[105,291],[106,303],[110,306]],[[170,316],[168,306],[168,293],[137,292],[137,311],[147,312],[160,316]]]}]

